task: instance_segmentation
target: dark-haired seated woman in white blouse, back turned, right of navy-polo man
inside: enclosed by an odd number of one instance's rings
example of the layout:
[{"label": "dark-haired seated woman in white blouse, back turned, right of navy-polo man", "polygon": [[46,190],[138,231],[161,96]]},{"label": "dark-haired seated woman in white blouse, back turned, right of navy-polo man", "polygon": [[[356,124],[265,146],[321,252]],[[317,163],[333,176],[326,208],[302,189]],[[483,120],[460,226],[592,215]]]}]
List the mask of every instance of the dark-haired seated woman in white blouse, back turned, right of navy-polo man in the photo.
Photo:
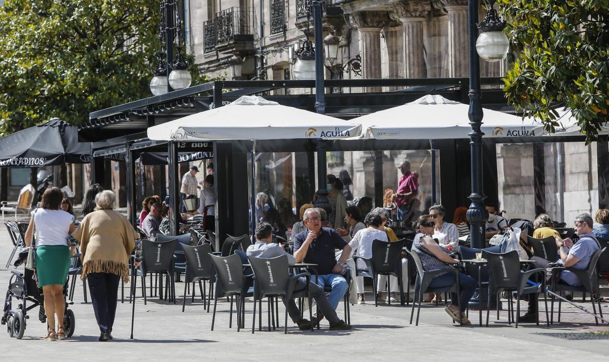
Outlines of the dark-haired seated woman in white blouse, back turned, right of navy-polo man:
[{"label": "dark-haired seated woman in white blouse, back turned, right of navy-polo man", "polygon": [[[370,259],[372,257],[372,242],[374,240],[381,240],[389,243],[387,233],[382,227],[382,218],[379,214],[370,212],[364,219],[367,228],[362,229],[353,235],[349,246],[353,255],[361,256]],[[364,260],[357,260],[357,269],[367,270],[367,266]],[[365,304],[364,299],[364,277],[355,277],[355,286],[357,289],[357,304]]]}]

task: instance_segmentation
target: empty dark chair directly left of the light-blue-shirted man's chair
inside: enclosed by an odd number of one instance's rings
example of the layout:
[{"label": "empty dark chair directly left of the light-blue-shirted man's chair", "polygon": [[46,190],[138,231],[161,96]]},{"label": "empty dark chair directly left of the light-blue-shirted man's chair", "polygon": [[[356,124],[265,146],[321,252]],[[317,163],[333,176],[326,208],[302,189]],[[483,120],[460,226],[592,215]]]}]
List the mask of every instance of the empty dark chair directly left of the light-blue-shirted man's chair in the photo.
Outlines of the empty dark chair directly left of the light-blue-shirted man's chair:
[{"label": "empty dark chair directly left of the light-blue-shirted man's chair", "polygon": [[[241,257],[236,254],[230,256],[216,256],[209,254],[211,262],[216,270],[216,296],[214,297],[214,313],[211,316],[211,330],[214,330],[216,322],[216,307],[218,298],[230,297],[230,321],[228,327],[233,327],[233,297],[237,299],[237,331],[245,324],[244,299],[253,296],[254,288],[247,287],[253,278],[253,274],[244,275]],[[255,303],[254,303],[255,305]],[[255,315],[255,313],[254,313]]]}]

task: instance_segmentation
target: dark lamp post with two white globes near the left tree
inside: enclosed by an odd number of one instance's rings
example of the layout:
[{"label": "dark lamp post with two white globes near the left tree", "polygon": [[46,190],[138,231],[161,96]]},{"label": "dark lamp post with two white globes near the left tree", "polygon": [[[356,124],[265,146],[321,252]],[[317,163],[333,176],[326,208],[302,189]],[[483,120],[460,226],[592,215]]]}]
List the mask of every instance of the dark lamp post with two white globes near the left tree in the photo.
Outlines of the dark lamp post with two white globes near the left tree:
[{"label": "dark lamp post with two white globes near the left tree", "polygon": [[[158,24],[159,50],[157,68],[152,73],[150,92],[155,96],[168,91],[188,88],[192,77],[188,72],[190,64],[183,55],[184,41],[181,37],[182,21],[178,12],[178,0],[162,0],[161,18]],[[174,43],[177,55],[174,58]],[[163,49],[163,44],[165,49]]]}]

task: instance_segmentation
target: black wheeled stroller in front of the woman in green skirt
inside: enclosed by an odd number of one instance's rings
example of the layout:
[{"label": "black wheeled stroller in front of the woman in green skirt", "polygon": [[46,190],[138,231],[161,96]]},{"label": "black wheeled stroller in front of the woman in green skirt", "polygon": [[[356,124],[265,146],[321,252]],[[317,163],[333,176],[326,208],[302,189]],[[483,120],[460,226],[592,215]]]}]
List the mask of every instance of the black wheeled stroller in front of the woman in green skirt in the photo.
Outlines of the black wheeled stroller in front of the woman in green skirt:
[{"label": "black wheeled stroller in front of the woman in green skirt", "polygon": [[[6,292],[4,313],[2,313],[0,324],[7,325],[10,337],[21,339],[26,331],[26,319],[29,319],[29,315],[27,315],[29,310],[40,307],[38,319],[40,319],[40,322],[46,322],[44,297],[33,279],[32,270],[26,269],[23,273],[19,270],[12,270],[10,273],[9,290]],[[68,296],[68,280],[63,285],[63,296],[64,298]],[[29,303],[31,304],[29,305]],[[66,310],[63,314],[66,336],[70,337],[74,334],[74,325],[74,312],[68,309],[68,303],[66,303]]]}]

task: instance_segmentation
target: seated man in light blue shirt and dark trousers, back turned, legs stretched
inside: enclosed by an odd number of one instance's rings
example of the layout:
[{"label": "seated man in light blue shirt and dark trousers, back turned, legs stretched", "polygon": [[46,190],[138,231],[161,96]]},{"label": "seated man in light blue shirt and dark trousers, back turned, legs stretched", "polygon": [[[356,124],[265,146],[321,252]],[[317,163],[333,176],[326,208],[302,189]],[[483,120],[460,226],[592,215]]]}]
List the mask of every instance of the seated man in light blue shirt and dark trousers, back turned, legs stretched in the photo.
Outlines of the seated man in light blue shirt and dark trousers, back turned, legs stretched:
[{"label": "seated man in light blue shirt and dark trousers, back turned, legs stretched", "polygon": [[[271,234],[272,230],[272,226],[270,226],[269,223],[260,223],[258,226],[256,226],[256,240],[258,241],[254,245],[250,245],[247,248],[247,256],[270,259],[284,255],[287,256],[287,263],[289,265],[294,265],[294,257],[284,251],[279,244],[273,243],[273,235]],[[298,291],[305,289],[305,283],[305,278],[298,279],[294,290]],[[330,323],[330,330],[351,329],[351,325],[346,324],[344,321],[338,318],[334,308],[329,304],[328,298],[326,298],[326,293],[324,293],[322,287],[314,284],[313,282],[309,282],[309,298],[313,298],[315,299],[315,302],[317,302],[317,307],[319,307],[323,315],[326,316]],[[300,318],[300,311],[298,310],[294,299],[289,299],[288,301],[283,299],[283,304],[286,305],[287,314],[290,315],[292,321],[298,324],[298,329],[311,329],[311,322],[309,322],[307,319]]]}]

